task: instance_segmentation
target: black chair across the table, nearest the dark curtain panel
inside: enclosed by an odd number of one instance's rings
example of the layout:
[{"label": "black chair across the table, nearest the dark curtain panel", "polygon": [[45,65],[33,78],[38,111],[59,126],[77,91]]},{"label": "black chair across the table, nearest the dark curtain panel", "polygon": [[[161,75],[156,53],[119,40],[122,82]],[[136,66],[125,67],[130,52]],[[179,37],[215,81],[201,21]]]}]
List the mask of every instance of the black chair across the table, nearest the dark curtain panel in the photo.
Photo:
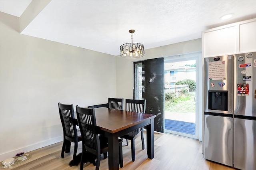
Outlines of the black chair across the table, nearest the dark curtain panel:
[{"label": "black chair across the table, nearest the dark curtain panel", "polygon": [[[125,100],[125,110],[126,111],[132,111],[137,113],[145,113],[146,111],[146,100],[133,100],[133,99],[126,99]],[[132,161],[135,160],[135,144],[134,140],[141,136],[141,142],[142,142],[142,150],[145,148],[144,144],[144,136],[143,136],[143,128],[138,128],[130,133],[125,134],[124,136],[121,136],[121,138],[126,139],[126,143],[128,146],[128,140],[131,140],[131,148],[132,148]]]}]

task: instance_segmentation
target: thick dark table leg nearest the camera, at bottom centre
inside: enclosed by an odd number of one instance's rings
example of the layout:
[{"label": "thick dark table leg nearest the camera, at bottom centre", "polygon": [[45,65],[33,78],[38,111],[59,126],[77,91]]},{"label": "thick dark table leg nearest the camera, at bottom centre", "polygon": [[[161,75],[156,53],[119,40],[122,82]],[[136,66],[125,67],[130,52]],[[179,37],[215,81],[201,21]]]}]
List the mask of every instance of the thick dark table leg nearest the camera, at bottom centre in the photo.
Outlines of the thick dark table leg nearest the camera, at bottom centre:
[{"label": "thick dark table leg nearest the camera, at bottom centre", "polygon": [[117,134],[108,134],[108,169],[119,169],[119,144]]}]

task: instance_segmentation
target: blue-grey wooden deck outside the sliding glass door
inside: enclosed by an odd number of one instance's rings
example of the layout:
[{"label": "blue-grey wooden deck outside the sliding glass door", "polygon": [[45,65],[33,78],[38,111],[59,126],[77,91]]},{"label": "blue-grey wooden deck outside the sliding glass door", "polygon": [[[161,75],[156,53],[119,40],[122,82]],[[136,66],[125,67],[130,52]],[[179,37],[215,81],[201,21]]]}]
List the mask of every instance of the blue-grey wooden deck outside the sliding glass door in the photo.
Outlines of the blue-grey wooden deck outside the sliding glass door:
[{"label": "blue-grey wooden deck outside the sliding glass door", "polygon": [[174,121],[170,119],[164,119],[164,128],[166,130],[172,130],[176,132],[182,132],[186,134],[196,134],[196,124],[190,122]]}]

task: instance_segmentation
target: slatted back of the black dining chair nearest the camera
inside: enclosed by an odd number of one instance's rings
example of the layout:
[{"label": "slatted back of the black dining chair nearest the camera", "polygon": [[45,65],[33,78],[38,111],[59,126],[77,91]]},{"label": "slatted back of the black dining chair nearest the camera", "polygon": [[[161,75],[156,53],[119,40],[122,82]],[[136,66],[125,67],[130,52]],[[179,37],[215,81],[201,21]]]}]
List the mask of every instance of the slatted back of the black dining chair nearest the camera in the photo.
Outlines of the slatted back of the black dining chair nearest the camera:
[{"label": "slatted back of the black dining chair nearest the camera", "polygon": [[84,147],[91,152],[96,152],[97,148],[100,149],[100,140],[96,133],[94,108],[76,106],[76,114]]}]

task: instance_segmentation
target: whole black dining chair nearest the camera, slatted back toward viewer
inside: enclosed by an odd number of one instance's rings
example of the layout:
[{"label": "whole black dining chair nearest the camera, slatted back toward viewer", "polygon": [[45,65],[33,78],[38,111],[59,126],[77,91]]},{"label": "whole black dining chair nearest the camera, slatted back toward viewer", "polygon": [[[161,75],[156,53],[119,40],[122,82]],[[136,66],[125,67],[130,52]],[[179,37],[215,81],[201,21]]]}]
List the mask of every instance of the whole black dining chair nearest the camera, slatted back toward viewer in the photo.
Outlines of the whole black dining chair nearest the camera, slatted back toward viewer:
[{"label": "whole black dining chair nearest the camera, slatted back toward viewer", "polygon": [[[96,170],[100,167],[100,154],[104,154],[106,158],[106,152],[108,152],[108,138],[103,135],[99,135],[96,130],[96,119],[94,108],[83,108],[76,106],[76,114],[78,119],[78,125],[82,135],[82,158],[80,164],[80,170],[84,168],[84,154],[86,150],[96,155]],[[123,167],[123,151],[122,140],[119,139],[119,164]]]}]

